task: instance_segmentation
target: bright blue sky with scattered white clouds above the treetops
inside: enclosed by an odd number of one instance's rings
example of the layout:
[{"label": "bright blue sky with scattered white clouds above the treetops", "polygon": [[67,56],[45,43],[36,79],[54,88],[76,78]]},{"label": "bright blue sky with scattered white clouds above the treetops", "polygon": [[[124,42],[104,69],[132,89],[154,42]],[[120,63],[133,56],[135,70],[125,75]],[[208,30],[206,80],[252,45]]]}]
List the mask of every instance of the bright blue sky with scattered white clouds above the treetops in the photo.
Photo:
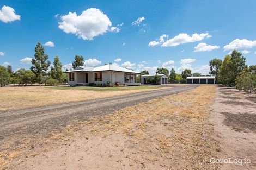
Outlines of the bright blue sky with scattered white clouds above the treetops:
[{"label": "bright blue sky with scattered white clouds above the treetops", "polygon": [[105,63],[208,74],[233,49],[256,65],[256,1],[0,1],[0,65],[31,67],[37,42],[70,69]]}]

